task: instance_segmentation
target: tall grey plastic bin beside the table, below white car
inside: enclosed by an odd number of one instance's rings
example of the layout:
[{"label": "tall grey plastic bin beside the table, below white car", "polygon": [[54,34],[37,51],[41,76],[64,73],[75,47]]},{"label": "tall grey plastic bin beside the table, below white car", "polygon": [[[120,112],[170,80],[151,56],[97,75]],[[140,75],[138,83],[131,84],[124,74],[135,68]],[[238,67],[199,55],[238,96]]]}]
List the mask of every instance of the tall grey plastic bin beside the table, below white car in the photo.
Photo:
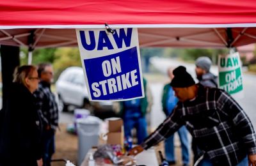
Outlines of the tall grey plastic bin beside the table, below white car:
[{"label": "tall grey plastic bin beside the table, below white car", "polygon": [[78,165],[84,160],[86,153],[99,144],[100,124],[102,120],[95,116],[76,120],[78,134]]}]

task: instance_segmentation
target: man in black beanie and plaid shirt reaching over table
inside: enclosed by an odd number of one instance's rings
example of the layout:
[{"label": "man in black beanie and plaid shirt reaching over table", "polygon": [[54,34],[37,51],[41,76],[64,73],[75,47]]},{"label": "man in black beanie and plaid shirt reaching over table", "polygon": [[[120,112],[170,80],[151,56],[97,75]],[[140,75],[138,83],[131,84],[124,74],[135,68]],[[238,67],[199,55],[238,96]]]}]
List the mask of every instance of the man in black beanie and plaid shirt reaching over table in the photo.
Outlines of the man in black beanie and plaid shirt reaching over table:
[{"label": "man in black beanie and plaid shirt reaching over table", "polygon": [[202,150],[195,165],[256,165],[256,134],[238,103],[222,89],[195,84],[183,66],[173,70],[173,75],[171,86],[179,102],[129,155],[158,144],[185,125]]}]

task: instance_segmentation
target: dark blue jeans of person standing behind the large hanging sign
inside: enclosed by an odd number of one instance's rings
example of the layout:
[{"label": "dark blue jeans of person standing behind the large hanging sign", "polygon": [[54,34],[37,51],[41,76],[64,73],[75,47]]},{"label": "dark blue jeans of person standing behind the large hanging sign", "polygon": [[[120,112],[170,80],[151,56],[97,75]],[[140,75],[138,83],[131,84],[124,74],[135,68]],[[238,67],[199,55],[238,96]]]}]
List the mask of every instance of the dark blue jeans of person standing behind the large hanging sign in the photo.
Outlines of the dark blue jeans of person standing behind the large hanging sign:
[{"label": "dark blue jeans of person standing behind the large hanging sign", "polygon": [[147,121],[145,117],[133,117],[124,119],[125,138],[132,137],[132,128],[136,128],[138,144],[147,137]]}]

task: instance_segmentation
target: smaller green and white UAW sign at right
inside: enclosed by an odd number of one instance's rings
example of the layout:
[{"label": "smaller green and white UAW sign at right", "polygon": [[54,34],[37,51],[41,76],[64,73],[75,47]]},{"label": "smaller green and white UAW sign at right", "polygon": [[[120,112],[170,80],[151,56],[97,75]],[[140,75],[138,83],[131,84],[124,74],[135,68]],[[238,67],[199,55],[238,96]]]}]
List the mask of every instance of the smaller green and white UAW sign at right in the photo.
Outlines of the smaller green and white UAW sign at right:
[{"label": "smaller green and white UAW sign at right", "polygon": [[243,98],[243,80],[241,73],[241,61],[238,52],[219,56],[219,85],[232,94],[235,98]]}]

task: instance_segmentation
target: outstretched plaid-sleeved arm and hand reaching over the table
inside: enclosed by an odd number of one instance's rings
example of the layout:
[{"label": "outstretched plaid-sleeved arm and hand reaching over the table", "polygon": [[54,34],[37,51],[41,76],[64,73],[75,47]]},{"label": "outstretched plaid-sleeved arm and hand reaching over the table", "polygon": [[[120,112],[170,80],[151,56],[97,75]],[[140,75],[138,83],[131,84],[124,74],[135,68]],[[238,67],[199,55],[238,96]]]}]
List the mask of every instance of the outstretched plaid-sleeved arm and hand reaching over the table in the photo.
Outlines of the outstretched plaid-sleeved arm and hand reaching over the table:
[{"label": "outstretched plaid-sleeved arm and hand reaching over the table", "polygon": [[144,149],[148,149],[164,139],[167,139],[173,133],[175,133],[179,128],[184,125],[182,119],[180,118],[180,109],[175,107],[173,113],[168,116],[162,124],[158,126],[158,128],[151,133],[140,146],[136,146],[129,151],[129,155],[138,155]]}]

